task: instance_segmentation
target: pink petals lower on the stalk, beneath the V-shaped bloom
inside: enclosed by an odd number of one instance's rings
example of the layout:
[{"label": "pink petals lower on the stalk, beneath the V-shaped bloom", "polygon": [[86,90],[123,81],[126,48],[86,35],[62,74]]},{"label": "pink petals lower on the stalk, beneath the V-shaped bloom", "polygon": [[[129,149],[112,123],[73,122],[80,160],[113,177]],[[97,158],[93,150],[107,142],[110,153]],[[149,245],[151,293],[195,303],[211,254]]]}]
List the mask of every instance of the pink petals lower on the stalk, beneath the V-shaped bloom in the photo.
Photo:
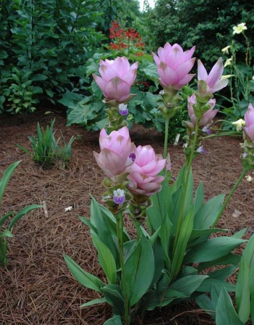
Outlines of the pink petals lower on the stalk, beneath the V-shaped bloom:
[{"label": "pink petals lower on the stalk, beneath the V-shaped bloom", "polygon": [[[193,110],[193,105],[195,104],[196,101],[196,96],[195,94],[193,94],[191,97],[188,96],[188,111],[189,111],[189,116],[191,119],[191,123],[193,124],[193,126],[195,126],[196,124],[196,117],[194,114],[194,110]],[[208,111],[206,111],[200,118],[199,122],[198,122],[198,126],[203,128],[205,126],[209,126],[212,124],[212,120],[215,117],[215,115],[217,114],[218,110],[213,110],[214,105],[216,103],[216,100],[210,99],[207,102],[207,105],[210,106],[210,109]]]}]

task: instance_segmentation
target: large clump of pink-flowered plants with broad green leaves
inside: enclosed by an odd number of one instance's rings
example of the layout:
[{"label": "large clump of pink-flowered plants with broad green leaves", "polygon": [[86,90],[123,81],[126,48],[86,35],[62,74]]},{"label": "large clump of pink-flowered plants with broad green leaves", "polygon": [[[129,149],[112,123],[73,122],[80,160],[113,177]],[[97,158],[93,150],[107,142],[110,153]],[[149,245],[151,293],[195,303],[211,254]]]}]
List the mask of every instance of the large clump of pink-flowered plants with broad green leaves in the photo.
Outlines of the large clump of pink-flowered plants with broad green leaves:
[{"label": "large clump of pink-flowered plants with broad green leaves", "polygon": [[[105,325],[129,325],[136,314],[190,299],[207,310],[217,325],[242,325],[250,318],[251,306],[254,306],[254,236],[241,257],[233,252],[247,242],[242,239],[246,229],[230,237],[225,234],[227,229],[216,228],[246,172],[254,168],[252,105],[245,115],[246,127],[243,128],[243,172],[225,201],[225,195],[221,194],[205,202],[202,183],[194,194],[191,172],[194,158],[206,153],[205,139],[229,134],[210,130],[217,113],[213,94],[227,84],[227,80],[221,78],[221,59],[209,74],[201,62],[198,63],[198,91],[188,98],[191,122],[186,122],[186,158],[177,179],[170,184],[167,126],[178,109],[180,88],[193,77],[189,74],[195,60],[191,58],[193,52],[194,47],[184,52],[179,45],[167,43],[158,50],[158,57],[154,54],[163,87],[160,108],[166,126],[163,156],[156,154],[150,145],[136,147],[127,127],[121,124],[115,124],[114,130],[108,127],[108,132],[104,129],[100,132],[100,152],[94,152],[94,157],[105,174],[102,200],[107,207],[93,198],[90,219],[80,219],[90,228],[107,280],[86,272],[67,256],[65,261],[77,281],[100,294],[100,298],[85,302],[82,307],[105,302],[113,306],[114,316]],[[118,71],[110,69],[114,62],[105,68],[110,78],[115,78],[119,71],[128,73],[126,59],[116,60]],[[101,75],[103,78],[103,73]],[[118,74],[117,77],[123,76]],[[110,82],[110,78],[105,79],[105,83]],[[127,103],[117,103],[114,109],[119,116],[125,116]],[[125,228],[127,218],[136,229],[134,236]],[[227,277],[236,271],[239,263],[235,286]],[[221,265],[224,267],[219,268]],[[228,294],[231,291],[236,291],[236,311]]]}]

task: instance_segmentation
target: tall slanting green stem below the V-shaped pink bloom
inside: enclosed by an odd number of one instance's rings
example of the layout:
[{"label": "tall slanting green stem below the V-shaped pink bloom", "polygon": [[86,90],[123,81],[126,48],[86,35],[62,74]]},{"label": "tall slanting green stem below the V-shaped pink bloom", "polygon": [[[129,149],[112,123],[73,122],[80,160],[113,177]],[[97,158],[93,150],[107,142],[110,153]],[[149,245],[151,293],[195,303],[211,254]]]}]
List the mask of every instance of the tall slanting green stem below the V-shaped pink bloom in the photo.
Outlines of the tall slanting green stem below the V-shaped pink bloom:
[{"label": "tall slanting green stem below the V-shaped pink bloom", "polygon": [[178,217],[178,221],[177,221],[176,236],[175,236],[174,247],[173,247],[173,255],[174,255],[175,250],[176,250],[177,241],[178,241],[179,232],[180,232],[180,227],[181,227],[181,224],[182,224],[182,219],[183,219],[183,214],[184,214],[184,207],[185,207],[185,199],[186,199],[186,195],[187,195],[187,192],[188,192],[188,184],[189,184],[189,178],[190,178],[190,174],[191,174],[191,163],[192,163],[192,160],[193,160],[193,157],[194,157],[194,151],[195,151],[195,147],[196,147],[197,135],[198,135],[198,120],[196,121],[196,124],[195,124],[195,134],[194,134],[193,142],[192,142],[192,145],[191,145],[190,158],[189,158],[188,164],[187,164],[186,178],[185,178],[185,181],[184,181],[184,184],[183,184],[184,185],[184,193],[183,193],[182,204],[181,204],[179,217]]}]

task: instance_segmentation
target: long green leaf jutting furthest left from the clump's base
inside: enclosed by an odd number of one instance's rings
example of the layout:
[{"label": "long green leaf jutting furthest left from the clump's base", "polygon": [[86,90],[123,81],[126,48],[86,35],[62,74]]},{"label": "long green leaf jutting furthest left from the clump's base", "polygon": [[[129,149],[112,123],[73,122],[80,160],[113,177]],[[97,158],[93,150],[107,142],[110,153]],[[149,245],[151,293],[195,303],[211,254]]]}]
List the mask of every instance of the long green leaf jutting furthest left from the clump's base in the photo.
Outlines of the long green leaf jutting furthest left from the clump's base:
[{"label": "long green leaf jutting furthest left from the clump's base", "polygon": [[105,286],[105,283],[103,283],[97,276],[94,276],[83,270],[76,262],[74,262],[74,260],[69,258],[67,255],[64,255],[64,260],[68,266],[70,273],[80,284],[82,284],[84,287],[102,293],[101,288]]}]

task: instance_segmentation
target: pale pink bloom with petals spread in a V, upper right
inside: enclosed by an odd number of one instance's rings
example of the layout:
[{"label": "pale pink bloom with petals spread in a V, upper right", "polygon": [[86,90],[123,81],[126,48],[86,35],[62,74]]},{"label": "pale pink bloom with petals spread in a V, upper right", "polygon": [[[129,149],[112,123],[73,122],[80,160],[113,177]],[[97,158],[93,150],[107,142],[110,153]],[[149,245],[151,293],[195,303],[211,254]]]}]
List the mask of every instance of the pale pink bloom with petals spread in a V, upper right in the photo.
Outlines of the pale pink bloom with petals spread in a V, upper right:
[{"label": "pale pink bloom with petals spread in a V, upper right", "polygon": [[226,87],[228,79],[221,79],[223,73],[222,58],[215,63],[209,74],[200,60],[197,61],[197,80],[204,80],[207,84],[206,92],[213,94],[214,92]]}]

